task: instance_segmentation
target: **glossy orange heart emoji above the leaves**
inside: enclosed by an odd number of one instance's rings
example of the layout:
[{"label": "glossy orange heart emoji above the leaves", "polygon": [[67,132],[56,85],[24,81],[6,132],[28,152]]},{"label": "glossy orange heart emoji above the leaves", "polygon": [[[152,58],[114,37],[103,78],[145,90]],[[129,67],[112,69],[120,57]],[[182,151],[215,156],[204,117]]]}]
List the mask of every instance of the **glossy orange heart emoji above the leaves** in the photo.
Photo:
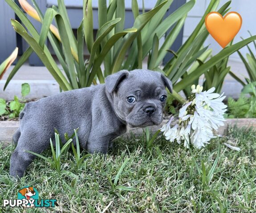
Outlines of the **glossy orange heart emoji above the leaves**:
[{"label": "glossy orange heart emoji above the leaves", "polygon": [[218,12],[210,12],[205,17],[205,25],[211,36],[224,48],[239,32],[242,17],[237,12],[229,12],[224,18]]}]

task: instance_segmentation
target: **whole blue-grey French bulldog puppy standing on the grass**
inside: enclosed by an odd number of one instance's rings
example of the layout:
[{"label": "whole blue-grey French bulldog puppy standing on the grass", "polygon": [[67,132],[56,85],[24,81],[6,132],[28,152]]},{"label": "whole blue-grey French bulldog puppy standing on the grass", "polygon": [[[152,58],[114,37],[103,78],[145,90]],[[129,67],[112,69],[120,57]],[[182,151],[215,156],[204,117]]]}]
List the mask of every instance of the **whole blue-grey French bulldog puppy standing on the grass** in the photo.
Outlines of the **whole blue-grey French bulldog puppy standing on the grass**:
[{"label": "whole blue-grey French bulldog puppy standing on the grass", "polygon": [[[79,128],[80,146],[90,153],[107,153],[109,142],[126,132],[126,126],[159,125],[163,118],[169,79],[156,71],[119,71],[105,84],[62,92],[27,103],[20,127],[13,136],[10,175],[22,177],[35,158],[49,147],[56,128],[60,135]],[[62,141],[65,141],[61,137]]]}]

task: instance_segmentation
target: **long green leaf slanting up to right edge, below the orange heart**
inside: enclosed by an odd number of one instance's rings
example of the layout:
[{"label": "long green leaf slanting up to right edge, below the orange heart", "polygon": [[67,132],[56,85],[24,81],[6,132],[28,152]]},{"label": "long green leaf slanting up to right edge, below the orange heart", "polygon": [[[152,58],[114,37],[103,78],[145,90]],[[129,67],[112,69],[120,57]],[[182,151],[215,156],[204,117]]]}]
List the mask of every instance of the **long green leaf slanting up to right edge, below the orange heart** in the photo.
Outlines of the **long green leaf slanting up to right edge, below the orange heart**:
[{"label": "long green leaf slanting up to right edge, below the orange heart", "polygon": [[230,47],[224,48],[217,55],[213,56],[206,63],[204,63],[203,65],[198,67],[196,72],[193,72],[190,75],[187,75],[187,77],[185,77],[179,83],[177,83],[174,86],[174,90],[179,92],[184,87],[189,86],[195,79],[199,78],[199,76],[202,75],[205,71],[207,71],[210,67],[214,66],[216,63],[219,63],[223,58],[228,57],[235,51],[238,51],[240,48],[242,48],[245,45],[247,45],[248,43],[252,42],[253,40],[256,40],[256,36],[252,36],[248,39],[244,39],[243,41],[233,44]]}]

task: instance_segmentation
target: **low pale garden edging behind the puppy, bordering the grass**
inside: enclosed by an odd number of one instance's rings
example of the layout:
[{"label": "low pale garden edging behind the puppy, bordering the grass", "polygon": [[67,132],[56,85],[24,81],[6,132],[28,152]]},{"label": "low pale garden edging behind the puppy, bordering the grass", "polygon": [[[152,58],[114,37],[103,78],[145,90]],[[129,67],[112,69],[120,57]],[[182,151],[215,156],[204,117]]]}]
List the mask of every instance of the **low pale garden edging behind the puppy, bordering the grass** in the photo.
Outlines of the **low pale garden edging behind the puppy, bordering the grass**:
[{"label": "low pale garden edging behind the puppy, bordering the grass", "polygon": [[[149,126],[149,130],[152,133],[156,132],[161,126],[166,123],[168,120],[163,120],[163,123],[159,126]],[[256,128],[256,118],[232,118],[227,119],[225,126],[221,126],[218,130],[218,134],[225,135],[228,130],[228,126],[237,126],[238,128],[242,127],[253,127]],[[7,146],[12,143],[12,136],[19,127],[19,121],[0,121],[0,144]],[[143,132],[142,128],[131,128],[129,130],[134,135],[141,135]],[[128,136],[128,133],[125,134]]]}]

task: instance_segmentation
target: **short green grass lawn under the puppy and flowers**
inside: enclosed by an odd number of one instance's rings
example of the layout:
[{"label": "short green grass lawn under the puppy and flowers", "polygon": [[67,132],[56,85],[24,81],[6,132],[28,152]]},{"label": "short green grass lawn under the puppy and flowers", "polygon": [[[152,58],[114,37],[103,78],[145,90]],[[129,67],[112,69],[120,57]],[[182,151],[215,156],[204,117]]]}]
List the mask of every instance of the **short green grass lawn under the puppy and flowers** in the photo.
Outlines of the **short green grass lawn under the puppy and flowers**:
[{"label": "short green grass lawn under the puppy and flowers", "polygon": [[[79,171],[72,151],[62,156],[60,173],[37,158],[20,181],[8,176],[14,149],[8,146],[0,149],[0,194],[16,199],[20,188],[32,185],[39,199],[57,199],[55,208],[25,212],[254,212],[256,134],[235,128],[228,135],[202,150],[187,150],[162,137],[149,150],[143,138],[120,138],[106,156],[87,157]],[[241,151],[223,145],[228,139]],[[50,150],[43,155],[50,157]],[[23,212],[0,205],[0,212]]]}]

